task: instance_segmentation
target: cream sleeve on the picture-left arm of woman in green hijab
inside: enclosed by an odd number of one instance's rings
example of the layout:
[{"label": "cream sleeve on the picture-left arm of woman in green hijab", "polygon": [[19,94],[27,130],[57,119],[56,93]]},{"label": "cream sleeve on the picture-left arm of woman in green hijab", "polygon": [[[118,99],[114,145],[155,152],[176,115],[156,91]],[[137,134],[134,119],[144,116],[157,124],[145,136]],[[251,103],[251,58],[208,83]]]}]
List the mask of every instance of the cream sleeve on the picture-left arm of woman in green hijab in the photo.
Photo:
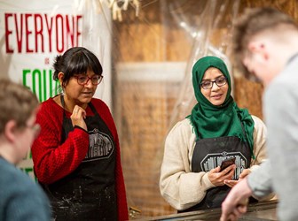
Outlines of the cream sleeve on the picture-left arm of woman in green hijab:
[{"label": "cream sleeve on the picture-left arm of woman in green hijab", "polygon": [[191,171],[194,141],[189,119],[178,122],[165,141],[160,190],[163,198],[176,210],[192,207],[202,201],[209,188],[215,187],[206,172]]}]

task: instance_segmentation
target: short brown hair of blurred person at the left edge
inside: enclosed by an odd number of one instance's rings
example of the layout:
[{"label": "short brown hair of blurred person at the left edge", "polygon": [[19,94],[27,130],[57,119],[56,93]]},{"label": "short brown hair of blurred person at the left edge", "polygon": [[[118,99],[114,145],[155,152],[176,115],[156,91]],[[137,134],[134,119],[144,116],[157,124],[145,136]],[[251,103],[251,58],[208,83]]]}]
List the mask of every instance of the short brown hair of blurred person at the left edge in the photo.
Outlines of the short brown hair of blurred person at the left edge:
[{"label": "short brown hair of blurred person at the left edge", "polygon": [[0,133],[4,133],[10,120],[15,120],[17,126],[26,126],[39,105],[36,95],[29,88],[9,79],[0,79],[0,101]]}]

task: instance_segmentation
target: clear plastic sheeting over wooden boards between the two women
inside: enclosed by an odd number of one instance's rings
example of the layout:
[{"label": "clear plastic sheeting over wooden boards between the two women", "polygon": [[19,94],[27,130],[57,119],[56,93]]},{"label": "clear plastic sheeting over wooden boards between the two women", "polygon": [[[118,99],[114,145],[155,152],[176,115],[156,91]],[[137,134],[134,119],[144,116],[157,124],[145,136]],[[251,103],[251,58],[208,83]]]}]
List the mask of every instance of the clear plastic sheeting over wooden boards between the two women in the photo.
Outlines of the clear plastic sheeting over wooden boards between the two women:
[{"label": "clear plastic sheeting over wooden boards between the two women", "polygon": [[[141,215],[175,213],[159,190],[164,140],[196,103],[192,65],[228,58],[239,1],[142,1],[140,16],[114,27],[114,110],[129,206]],[[232,73],[232,72],[231,72]]]}]

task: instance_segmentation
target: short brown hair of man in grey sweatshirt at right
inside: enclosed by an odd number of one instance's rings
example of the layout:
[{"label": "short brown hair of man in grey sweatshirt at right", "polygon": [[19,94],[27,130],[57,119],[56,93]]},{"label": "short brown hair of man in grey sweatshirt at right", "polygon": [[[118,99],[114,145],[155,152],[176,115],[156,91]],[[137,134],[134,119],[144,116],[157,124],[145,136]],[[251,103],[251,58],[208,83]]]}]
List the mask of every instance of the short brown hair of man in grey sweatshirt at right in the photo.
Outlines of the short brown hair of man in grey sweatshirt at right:
[{"label": "short brown hair of man in grey sweatshirt at right", "polygon": [[242,60],[247,54],[247,45],[256,35],[264,31],[272,31],[280,26],[298,29],[294,19],[277,9],[249,8],[244,11],[234,24],[232,34],[232,57],[239,69],[247,74],[247,68]]}]

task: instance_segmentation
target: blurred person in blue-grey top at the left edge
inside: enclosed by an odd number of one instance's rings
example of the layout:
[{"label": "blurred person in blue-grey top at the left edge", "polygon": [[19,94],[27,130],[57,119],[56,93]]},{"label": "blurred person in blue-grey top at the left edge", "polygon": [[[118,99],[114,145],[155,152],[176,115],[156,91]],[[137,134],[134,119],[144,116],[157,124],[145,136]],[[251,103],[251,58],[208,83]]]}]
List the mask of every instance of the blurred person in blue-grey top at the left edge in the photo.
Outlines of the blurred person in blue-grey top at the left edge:
[{"label": "blurred person in blue-grey top at the left edge", "polygon": [[24,86],[1,79],[0,101],[0,220],[50,221],[43,189],[16,166],[40,131],[35,124],[38,100]]}]

